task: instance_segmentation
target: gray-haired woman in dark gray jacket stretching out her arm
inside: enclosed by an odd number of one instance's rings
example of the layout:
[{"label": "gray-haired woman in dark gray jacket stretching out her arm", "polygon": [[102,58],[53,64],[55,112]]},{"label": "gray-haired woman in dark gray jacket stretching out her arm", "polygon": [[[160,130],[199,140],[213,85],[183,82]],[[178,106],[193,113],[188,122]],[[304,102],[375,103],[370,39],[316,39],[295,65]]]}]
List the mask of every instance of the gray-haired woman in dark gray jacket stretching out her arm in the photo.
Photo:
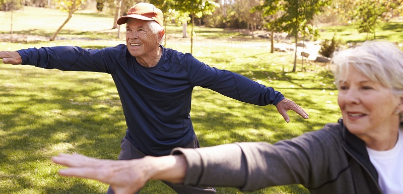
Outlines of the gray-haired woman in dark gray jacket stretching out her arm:
[{"label": "gray-haired woman in dark gray jacket stretching out her arm", "polygon": [[[343,118],[292,140],[178,148],[171,156],[111,161],[59,155],[61,175],[133,193],[149,179],[255,190],[302,184],[311,193],[403,193],[403,52],[365,42],[333,57]],[[133,174],[136,172],[136,174]]]}]

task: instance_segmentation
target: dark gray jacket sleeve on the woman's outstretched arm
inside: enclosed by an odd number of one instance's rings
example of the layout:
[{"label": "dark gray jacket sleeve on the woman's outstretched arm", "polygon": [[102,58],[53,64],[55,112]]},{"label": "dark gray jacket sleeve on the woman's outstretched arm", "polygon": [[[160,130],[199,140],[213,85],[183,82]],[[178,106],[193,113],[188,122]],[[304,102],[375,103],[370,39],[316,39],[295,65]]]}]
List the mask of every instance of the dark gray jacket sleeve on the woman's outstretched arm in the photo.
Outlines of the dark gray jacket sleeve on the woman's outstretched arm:
[{"label": "dark gray jacket sleeve on the woman's outstretched arm", "polygon": [[[236,186],[241,190],[335,180],[348,164],[338,138],[328,131],[307,133],[277,144],[245,142],[197,149],[176,148],[187,161],[186,185]],[[332,170],[329,170],[332,169]]]}]

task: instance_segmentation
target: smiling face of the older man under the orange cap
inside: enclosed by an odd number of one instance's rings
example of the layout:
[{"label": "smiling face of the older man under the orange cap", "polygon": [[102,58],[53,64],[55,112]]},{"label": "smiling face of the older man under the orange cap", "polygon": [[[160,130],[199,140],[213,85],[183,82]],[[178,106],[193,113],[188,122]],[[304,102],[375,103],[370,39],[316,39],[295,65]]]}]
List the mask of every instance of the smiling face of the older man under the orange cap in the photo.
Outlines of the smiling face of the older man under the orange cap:
[{"label": "smiling face of the older man under the orange cap", "polygon": [[151,31],[149,21],[130,19],[126,24],[126,45],[132,56],[148,57],[159,48],[158,34]]}]

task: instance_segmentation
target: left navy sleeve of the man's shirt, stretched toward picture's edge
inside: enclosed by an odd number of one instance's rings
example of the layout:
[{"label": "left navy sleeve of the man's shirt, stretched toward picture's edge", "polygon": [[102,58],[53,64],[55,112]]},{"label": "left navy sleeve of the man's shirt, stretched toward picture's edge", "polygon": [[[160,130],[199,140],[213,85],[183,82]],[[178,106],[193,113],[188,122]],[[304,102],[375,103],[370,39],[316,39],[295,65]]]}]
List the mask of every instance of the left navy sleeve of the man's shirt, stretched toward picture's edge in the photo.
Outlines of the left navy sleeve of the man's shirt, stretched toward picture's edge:
[{"label": "left navy sleeve of the man's shirt, stretched toward picture's edge", "polygon": [[[84,49],[77,46],[55,46],[18,50],[22,64],[62,71],[111,72],[121,55],[121,48]],[[124,52],[123,52],[124,53]]]}]

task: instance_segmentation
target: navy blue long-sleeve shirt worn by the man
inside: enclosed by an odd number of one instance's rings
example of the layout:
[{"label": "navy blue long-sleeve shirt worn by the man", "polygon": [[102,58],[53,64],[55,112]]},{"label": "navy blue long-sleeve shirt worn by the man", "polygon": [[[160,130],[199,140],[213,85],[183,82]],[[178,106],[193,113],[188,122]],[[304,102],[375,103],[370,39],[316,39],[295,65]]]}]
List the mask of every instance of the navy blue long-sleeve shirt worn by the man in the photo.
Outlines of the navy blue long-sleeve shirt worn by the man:
[{"label": "navy blue long-sleeve shirt worn by the man", "polygon": [[190,120],[195,86],[255,105],[276,105],[284,96],[244,76],[212,68],[189,53],[163,48],[155,67],[145,68],[126,45],[103,49],[57,46],[18,50],[23,64],[62,71],[110,74],[120,96],[126,137],[147,155],[168,155],[194,138]]}]

